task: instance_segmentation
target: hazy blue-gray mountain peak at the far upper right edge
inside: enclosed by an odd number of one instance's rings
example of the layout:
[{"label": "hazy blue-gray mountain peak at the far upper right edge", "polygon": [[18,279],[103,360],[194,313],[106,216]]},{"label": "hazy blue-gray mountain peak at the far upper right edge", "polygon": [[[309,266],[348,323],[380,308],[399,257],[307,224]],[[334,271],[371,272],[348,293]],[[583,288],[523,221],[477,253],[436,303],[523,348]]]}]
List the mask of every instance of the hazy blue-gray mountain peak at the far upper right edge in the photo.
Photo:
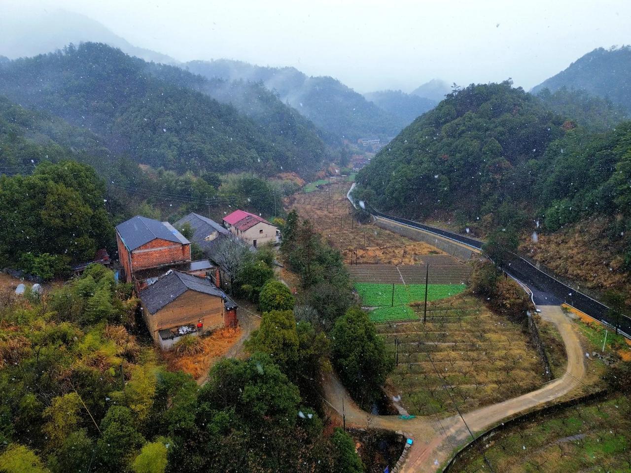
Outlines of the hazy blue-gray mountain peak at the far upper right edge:
[{"label": "hazy blue-gray mountain peak at the far upper right edge", "polygon": [[631,112],[631,46],[594,49],[572,62],[567,69],[533,88],[533,93],[562,87],[585,90],[611,100]]}]

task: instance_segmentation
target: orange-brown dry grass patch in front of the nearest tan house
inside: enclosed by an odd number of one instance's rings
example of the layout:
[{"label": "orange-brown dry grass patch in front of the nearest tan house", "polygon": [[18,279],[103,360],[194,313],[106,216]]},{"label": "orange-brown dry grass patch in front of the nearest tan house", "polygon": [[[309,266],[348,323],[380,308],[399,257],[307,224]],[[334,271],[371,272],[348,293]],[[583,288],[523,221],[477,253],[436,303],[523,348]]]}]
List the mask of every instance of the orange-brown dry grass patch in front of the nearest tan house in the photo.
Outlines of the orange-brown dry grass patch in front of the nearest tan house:
[{"label": "orange-brown dry grass patch in front of the nearest tan house", "polygon": [[199,339],[201,351],[195,354],[180,356],[175,351],[163,353],[171,371],[182,370],[196,380],[205,376],[216,359],[224,356],[241,335],[241,329],[227,327],[216,330],[208,337]]}]

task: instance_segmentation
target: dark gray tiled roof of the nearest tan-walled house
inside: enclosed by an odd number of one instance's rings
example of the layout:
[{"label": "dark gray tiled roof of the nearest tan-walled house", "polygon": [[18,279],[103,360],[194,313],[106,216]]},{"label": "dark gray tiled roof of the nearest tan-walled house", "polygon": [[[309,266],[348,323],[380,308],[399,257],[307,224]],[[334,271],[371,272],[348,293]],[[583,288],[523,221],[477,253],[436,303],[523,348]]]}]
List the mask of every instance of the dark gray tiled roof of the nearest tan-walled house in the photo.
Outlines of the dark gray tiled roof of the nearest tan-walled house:
[{"label": "dark gray tiled roof of the nearest tan-walled house", "polygon": [[144,307],[150,313],[156,313],[189,289],[211,296],[218,296],[224,301],[228,299],[228,296],[208,279],[172,270],[168,271],[164,276],[160,276],[151,286],[140,291],[139,297],[143,301]]}]

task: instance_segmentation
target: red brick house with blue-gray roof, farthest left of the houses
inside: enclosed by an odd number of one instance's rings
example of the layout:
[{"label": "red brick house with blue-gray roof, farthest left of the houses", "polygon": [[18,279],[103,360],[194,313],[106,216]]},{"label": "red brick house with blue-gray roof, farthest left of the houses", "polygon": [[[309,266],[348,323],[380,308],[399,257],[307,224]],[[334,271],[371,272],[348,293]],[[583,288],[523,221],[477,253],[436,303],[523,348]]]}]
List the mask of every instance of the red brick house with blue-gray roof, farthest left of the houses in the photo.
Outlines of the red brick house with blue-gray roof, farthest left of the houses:
[{"label": "red brick house with blue-gray roof, farthest left of the houses", "polygon": [[116,242],[127,283],[142,269],[191,261],[191,242],[168,222],[136,215],[116,226]]}]

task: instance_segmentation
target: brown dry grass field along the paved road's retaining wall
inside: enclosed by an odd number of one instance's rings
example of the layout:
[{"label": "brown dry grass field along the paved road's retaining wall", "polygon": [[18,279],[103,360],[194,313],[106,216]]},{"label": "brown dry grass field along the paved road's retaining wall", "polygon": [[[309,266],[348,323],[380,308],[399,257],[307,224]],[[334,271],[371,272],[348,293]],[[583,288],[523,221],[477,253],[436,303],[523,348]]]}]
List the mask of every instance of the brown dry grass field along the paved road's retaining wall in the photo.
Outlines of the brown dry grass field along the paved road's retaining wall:
[{"label": "brown dry grass field along the paved road's retaining wall", "polygon": [[346,199],[349,188],[347,182],[331,184],[330,200],[326,190],[295,194],[286,199],[285,207],[296,209],[300,217],[310,219],[316,230],[338,248],[346,264],[351,262],[351,251],[355,250],[358,264],[416,264],[421,261],[418,255],[444,254],[427,243],[415,242],[372,224],[353,224],[350,202]]}]

